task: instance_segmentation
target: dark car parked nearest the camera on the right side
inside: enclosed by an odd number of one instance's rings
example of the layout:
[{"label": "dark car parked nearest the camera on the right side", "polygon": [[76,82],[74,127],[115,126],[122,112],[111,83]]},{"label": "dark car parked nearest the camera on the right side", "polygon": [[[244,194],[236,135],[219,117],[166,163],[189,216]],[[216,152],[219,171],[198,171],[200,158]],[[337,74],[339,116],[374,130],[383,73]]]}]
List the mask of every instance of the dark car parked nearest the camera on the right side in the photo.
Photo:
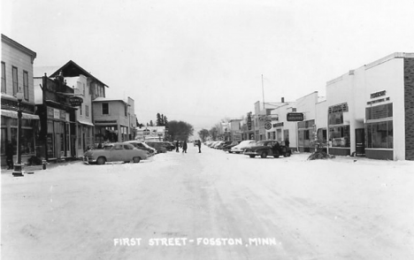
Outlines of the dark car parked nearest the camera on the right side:
[{"label": "dark car parked nearest the camera on the right side", "polygon": [[257,144],[249,147],[244,151],[245,155],[248,155],[250,158],[260,156],[265,157],[275,157],[280,156],[290,157],[292,151],[285,146],[285,142],[282,141],[257,141]]}]

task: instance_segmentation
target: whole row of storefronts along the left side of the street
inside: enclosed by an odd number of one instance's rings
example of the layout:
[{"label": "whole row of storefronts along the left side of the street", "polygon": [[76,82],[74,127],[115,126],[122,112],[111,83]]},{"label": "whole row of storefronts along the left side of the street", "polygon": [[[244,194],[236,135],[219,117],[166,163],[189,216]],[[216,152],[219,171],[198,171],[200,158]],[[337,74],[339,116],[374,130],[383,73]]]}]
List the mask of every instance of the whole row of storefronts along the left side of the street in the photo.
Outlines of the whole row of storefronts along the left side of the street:
[{"label": "whole row of storefronts along the left side of the street", "polygon": [[34,68],[35,57],[35,51],[2,34],[2,166],[10,150],[16,162],[18,146],[25,164],[34,157],[82,157],[104,142],[134,139],[134,99],[106,98],[109,87],[72,60],[60,67]]}]

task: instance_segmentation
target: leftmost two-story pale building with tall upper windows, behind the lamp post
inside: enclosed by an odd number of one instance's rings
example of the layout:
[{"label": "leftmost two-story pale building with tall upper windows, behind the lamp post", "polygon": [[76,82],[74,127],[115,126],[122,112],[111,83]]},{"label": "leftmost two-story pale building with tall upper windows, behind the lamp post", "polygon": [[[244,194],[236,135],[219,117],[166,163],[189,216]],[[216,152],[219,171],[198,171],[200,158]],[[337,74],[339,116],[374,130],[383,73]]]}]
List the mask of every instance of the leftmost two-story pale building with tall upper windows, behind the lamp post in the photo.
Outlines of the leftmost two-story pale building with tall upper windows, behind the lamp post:
[{"label": "leftmost two-story pale building with tall upper windows, behind the lamp post", "polygon": [[[22,110],[22,133],[20,134],[21,160],[27,162],[36,155],[35,136],[39,117],[35,115],[35,94],[33,63],[36,53],[19,42],[2,34],[2,71],[1,71],[1,164],[5,163],[5,148],[12,144],[17,154],[18,138],[18,92],[23,93],[20,103]],[[16,162],[16,158],[13,159]]]}]

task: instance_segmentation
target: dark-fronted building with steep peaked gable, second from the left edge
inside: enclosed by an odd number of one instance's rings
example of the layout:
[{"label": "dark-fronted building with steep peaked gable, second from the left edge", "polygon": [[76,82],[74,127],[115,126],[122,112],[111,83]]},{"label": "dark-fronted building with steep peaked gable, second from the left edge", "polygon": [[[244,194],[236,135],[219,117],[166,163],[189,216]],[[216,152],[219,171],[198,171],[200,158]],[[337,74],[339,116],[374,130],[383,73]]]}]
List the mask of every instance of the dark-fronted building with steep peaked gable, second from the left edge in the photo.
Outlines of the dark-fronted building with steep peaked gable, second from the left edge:
[{"label": "dark-fronted building with steep peaked gable, second from the left edge", "polygon": [[[40,135],[45,139],[46,158],[82,157],[86,149],[95,147],[92,100],[105,96],[108,86],[72,60],[61,67],[36,68],[36,72],[50,73],[46,78],[35,76],[36,106],[42,134],[47,133]],[[42,117],[42,111],[47,116]]]}]

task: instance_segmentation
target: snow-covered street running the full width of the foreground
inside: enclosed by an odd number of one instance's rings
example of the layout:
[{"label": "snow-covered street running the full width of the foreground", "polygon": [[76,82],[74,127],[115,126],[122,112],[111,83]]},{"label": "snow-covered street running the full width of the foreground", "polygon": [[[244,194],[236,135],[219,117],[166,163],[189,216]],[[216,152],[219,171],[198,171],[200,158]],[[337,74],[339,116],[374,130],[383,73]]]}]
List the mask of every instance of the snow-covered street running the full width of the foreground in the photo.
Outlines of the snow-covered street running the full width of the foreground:
[{"label": "snow-covered street running the full width of the foreground", "polygon": [[2,172],[2,259],[414,259],[414,164],[203,147]]}]

